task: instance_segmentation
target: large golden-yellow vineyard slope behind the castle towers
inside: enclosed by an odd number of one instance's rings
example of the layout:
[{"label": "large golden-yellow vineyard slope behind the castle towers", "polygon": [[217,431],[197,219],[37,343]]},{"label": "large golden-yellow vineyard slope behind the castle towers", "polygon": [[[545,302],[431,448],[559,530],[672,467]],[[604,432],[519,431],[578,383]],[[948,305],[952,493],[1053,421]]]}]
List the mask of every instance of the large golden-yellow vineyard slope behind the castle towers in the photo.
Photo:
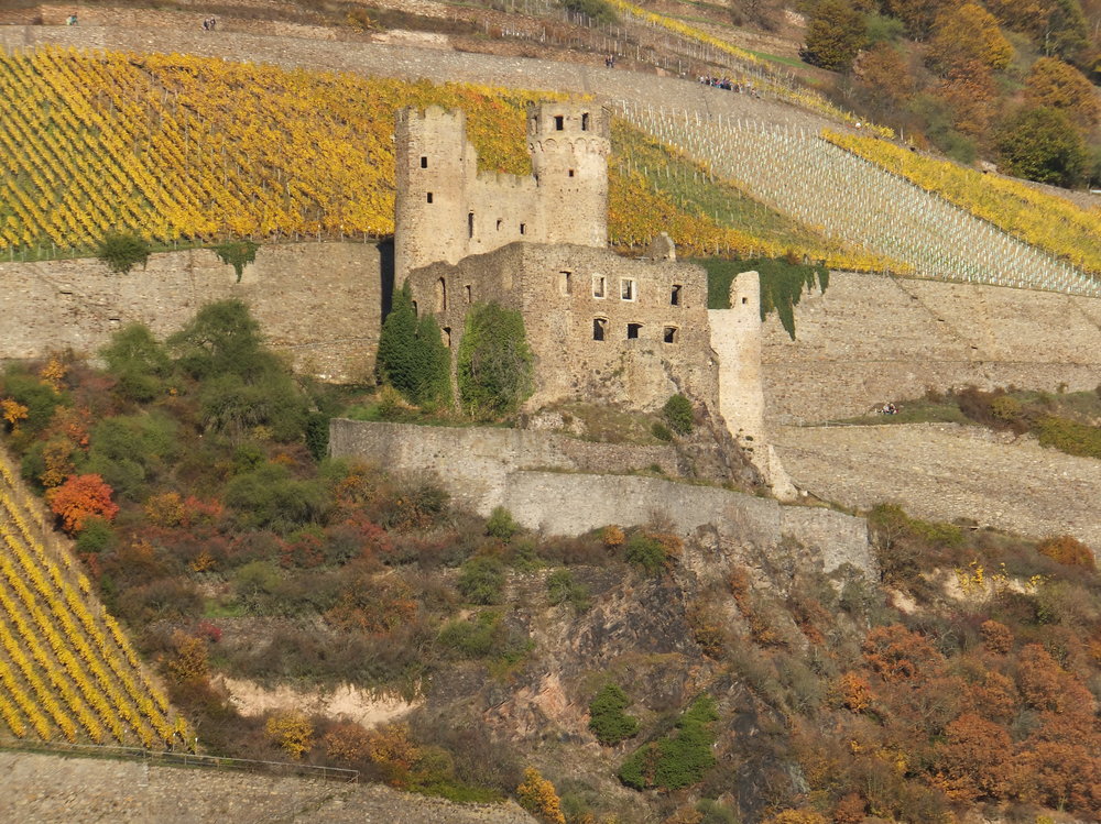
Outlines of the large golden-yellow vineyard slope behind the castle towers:
[{"label": "large golden-yellow vineyard slope behind the castle towers", "polygon": [[[560,97],[61,47],[0,55],[0,253],[9,254],[40,244],[84,252],[112,230],[161,243],[386,235],[397,109],[461,108],[481,165],[527,174],[525,103]],[[614,158],[610,190],[620,248],[667,231],[688,255],[794,251],[835,268],[905,268],[825,240],[792,249],[721,226],[620,174]]]}]

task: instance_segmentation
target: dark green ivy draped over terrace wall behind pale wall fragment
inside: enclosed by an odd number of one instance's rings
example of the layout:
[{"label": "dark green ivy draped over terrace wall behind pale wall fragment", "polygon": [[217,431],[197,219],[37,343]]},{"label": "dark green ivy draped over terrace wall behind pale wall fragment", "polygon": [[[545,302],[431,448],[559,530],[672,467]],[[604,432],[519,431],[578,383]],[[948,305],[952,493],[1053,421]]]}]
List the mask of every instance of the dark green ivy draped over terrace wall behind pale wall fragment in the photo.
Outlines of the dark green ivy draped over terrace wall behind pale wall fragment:
[{"label": "dark green ivy draped over terrace wall behind pale wall fragment", "polygon": [[817,286],[826,292],[829,270],[820,263],[796,263],[787,257],[749,257],[697,261],[707,270],[707,308],[730,308],[730,284],[742,272],[756,271],[761,276],[761,320],[775,311],[780,322],[795,340],[795,307],[806,289]]}]

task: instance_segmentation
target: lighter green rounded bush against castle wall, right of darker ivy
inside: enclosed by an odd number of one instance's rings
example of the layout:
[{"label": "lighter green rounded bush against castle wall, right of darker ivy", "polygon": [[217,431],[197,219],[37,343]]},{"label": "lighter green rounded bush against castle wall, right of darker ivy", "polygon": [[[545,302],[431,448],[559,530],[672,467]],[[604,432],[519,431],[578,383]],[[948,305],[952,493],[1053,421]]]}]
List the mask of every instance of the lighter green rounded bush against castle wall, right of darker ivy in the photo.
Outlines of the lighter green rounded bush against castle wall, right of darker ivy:
[{"label": "lighter green rounded bush against castle wall, right of darker ivy", "polygon": [[534,356],[524,318],[514,309],[471,307],[457,361],[459,397],[471,416],[510,415],[535,391]]}]

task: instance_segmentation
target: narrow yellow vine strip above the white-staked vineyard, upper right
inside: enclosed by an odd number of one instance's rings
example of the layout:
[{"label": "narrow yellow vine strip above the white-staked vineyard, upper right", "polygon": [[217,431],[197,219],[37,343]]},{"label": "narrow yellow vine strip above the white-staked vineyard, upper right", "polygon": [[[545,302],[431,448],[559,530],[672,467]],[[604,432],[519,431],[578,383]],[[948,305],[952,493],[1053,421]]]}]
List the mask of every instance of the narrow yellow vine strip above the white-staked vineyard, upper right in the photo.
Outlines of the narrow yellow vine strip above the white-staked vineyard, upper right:
[{"label": "narrow yellow vine strip above the white-staked vineyard, upper right", "polygon": [[874,138],[825,130],[822,136],[934,191],[1007,234],[1101,275],[1101,209],[1089,211],[1017,180],[983,175]]}]

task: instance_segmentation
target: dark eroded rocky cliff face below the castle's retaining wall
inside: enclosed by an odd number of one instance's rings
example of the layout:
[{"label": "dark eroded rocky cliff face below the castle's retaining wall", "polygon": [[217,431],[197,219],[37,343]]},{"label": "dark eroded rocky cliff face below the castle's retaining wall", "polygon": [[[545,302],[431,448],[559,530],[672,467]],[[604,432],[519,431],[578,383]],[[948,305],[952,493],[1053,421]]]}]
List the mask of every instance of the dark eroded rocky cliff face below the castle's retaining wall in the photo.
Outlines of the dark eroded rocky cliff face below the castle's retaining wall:
[{"label": "dark eroded rocky cliff face below the castle's retaining wall", "polygon": [[[581,611],[549,603],[548,572],[516,574],[499,608],[505,631],[527,639],[530,651],[513,664],[457,662],[446,679],[426,685],[425,705],[410,719],[422,730],[481,726],[559,792],[600,799],[620,821],[661,821],[686,799],[705,796],[756,821],[778,798],[804,789],[786,719],[796,699],[770,683],[754,648],[757,624],[766,620],[772,642],[793,658],[810,653],[814,644],[793,613],[776,605],[808,590],[831,597],[863,585],[864,574],[851,564],[827,576],[829,553],[820,545],[762,541],[752,529],[720,536],[704,527],[659,574],[619,564],[573,567],[575,583],[588,591]],[[766,616],[765,603],[772,605]],[[641,727],[612,747],[601,746],[588,726],[589,704],[609,682],[626,692],[626,712]],[[617,778],[624,759],[668,733],[701,694],[715,700],[720,716],[712,725],[718,763],[704,783],[673,795],[624,787]]]}]

